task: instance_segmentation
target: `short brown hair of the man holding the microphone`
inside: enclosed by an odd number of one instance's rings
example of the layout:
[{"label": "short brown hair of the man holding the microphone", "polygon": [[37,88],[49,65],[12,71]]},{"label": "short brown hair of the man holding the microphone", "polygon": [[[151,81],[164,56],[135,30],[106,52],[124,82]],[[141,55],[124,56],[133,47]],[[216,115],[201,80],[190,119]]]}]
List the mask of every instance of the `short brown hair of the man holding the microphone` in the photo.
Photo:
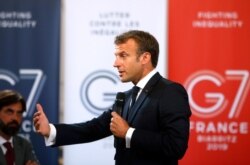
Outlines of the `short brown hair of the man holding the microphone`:
[{"label": "short brown hair of the man holding the microphone", "polygon": [[130,30],[116,36],[114,43],[116,45],[125,43],[133,39],[138,44],[138,54],[149,52],[151,54],[151,63],[153,67],[157,66],[159,58],[159,43],[156,38],[148,32],[141,30]]}]

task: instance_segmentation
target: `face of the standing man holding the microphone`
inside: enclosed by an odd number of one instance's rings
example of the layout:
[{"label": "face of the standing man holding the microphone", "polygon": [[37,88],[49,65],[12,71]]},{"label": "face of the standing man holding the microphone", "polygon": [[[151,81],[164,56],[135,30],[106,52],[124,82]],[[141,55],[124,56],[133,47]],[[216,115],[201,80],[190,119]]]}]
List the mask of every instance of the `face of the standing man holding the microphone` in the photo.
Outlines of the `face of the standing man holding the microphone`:
[{"label": "face of the standing man holding the microphone", "polygon": [[133,39],[115,46],[113,66],[118,69],[122,82],[132,81],[136,84],[143,76],[142,58],[138,56],[137,48],[137,43]]}]

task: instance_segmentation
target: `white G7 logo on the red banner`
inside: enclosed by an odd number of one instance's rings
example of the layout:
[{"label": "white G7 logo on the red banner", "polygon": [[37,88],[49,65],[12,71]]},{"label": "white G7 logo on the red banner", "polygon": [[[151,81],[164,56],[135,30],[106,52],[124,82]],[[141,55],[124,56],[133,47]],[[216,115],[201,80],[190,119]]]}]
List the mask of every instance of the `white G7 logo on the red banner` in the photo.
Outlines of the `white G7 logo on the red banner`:
[{"label": "white G7 logo on the red banner", "polygon": [[[225,94],[232,95],[232,92],[216,92],[216,89],[213,89],[213,92],[207,92],[209,88],[206,85],[208,85],[208,83],[212,83],[213,85],[222,88],[226,82],[237,80],[240,80],[240,83],[236,88],[236,93],[234,95],[233,102],[228,113],[228,118],[236,118],[240,114],[240,110],[242,109],[243,103],[248,95],[250,87],[249,71],[226,70],[224,77],[216,72],[208,70],[203,70],[192,74],[187,79],[185,87],[189,94],[190,106],[193,110],[193,113],[203,118],[214,117],[220,114],[228,105],[228,99],[225,97]],[[202,101],[194,99],[195,88],[201,87],[202,83],[206,83],[206,85],[203,84],[203,90],[205,90],[204,102],[206,103],[206,105],[204,103],[202,104]],[[201,88],[199,89],[202,90]],[[197,95],[199,95],[199,92],[200,91],[197,92],[196,90]]]}]

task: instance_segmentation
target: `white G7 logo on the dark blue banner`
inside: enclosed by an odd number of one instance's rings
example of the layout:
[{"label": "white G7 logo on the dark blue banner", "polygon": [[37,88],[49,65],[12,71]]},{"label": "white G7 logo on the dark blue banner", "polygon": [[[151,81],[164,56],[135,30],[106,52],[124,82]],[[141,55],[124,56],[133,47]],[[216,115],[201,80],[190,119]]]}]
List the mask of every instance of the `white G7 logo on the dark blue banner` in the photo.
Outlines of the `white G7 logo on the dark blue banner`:
[{"label": "white G7 logo on the dark blue banner", "polygon": [[38,97],[40,96],[41,90],[46,80],[46,76],[40,69],[20,69],[19,74],[20,78],[8,70],[0,69],[0,81],[6,81],[11,86],[15,86],[19,82],[19,79],[34,80],[31,86],[31,90],[28,94],[28,98],[26,100],[27,110],[23,114],[24,117],[32,116],[33,112],[31,110],[34,109],[35,103],[37,102]]}]

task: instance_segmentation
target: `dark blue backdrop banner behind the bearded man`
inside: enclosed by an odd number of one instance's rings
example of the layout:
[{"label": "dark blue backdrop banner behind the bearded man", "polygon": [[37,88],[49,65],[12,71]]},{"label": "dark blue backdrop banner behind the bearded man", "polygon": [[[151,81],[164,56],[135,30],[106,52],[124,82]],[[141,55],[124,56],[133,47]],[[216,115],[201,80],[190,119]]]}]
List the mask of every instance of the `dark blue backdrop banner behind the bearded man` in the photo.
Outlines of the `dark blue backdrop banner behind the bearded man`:
[{"label": "dark blue backdrop banner behind the bearded man", "polygon": [[20,135],[33,143],[41,165],[58,164],[58,149],[45,147],[34,133],[32,116],[40,102],[51,122],[58,122],[59,0],[0,0],[0,90],[25,97]]}]

